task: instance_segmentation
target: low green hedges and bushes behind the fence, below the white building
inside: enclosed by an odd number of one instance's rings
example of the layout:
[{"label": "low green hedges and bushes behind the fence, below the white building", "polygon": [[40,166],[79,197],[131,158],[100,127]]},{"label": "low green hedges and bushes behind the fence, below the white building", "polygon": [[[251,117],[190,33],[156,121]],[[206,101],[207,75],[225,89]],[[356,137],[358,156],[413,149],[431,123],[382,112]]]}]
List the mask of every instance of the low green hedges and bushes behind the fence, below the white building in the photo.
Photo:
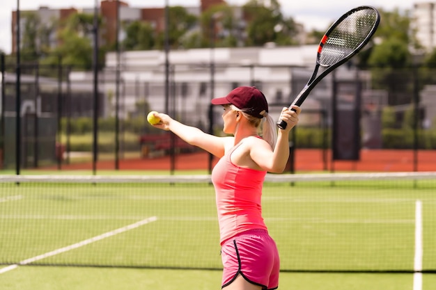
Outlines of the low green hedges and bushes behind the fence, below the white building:
[{"label": "low green hedges and bushes behind the fence, below the white building", "polygon": [[[394,118],[394,111],[387,108],[382,114],[382,147],[384,149],[412,149],[414,147],[414,132],[410,128],[398,128]],[[410,126],[409,118],[404,124]],[[62,134],[65,136],[68,120],[61,120]],[[404,125],[405,126],[405,125]],[[139,136],[142,134],[151,134],[150,127],[145,117],[132,118],[129,120],[120,120],[120,136],[123,138],[125,148],[132,150],[139,148]],[[70,136],[72,151],[90,151],[92,149],[92,118],[75,118],[70,122]],[[222,133],[217,131],[217,134]],[[99,148],[102,152],[111,152],[114,150],[115,119],[106,118],[98,121]],[[436,148],[436,130],[418,131],[419,149],[434,150]],[[331,147],[331,134],[316,127],[298,127],[296,131],[295,146],[297,148],[320,149]]]}]

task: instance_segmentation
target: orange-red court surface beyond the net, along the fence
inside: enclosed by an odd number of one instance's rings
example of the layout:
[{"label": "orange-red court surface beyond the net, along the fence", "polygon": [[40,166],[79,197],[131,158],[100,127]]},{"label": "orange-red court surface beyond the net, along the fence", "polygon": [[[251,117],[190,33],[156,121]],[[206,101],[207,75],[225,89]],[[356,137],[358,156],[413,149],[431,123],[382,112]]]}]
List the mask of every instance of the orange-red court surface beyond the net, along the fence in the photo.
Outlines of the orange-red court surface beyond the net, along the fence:
[{"label": "orange-red court surface beyond the net, along the fence", "polygon": [[[196,152],[177,154],[173,170],[208,170],[209,154]],[[217,159],[214,158],[212,164]],[[57,167],[56,167],[57,168]],[[92,164],[75,163],[61,165],[62,170],[88,170]],[[97,170],[114,170],[114,161],[98,161]],[[120,170],[171,170],[171,157],[161,156],[144,159],[123,159]],[[47,169],[47,168],[45,168]],[[435,171],[436,150],[361,150],[359,161],[332,161],[329,150],[295,150],[294,172],[311,171],[360,171],[360,172],[401,172]],[[289,170],[287,170],[289,172]]]}]

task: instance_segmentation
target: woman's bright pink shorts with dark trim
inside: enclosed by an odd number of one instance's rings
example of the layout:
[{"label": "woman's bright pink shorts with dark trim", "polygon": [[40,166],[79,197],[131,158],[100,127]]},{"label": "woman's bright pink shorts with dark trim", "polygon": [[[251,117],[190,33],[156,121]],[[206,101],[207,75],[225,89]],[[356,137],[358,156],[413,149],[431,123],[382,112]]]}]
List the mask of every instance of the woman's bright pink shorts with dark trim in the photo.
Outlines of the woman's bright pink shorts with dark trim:
[{"label": "woman's bright pink shorts with dark trim", "polygon": [[279,251],[265,229],[249,229],[225,241],[221,259],[224,266],[221,288],[231,284],[238,274],[262,289],[279,287]]}]

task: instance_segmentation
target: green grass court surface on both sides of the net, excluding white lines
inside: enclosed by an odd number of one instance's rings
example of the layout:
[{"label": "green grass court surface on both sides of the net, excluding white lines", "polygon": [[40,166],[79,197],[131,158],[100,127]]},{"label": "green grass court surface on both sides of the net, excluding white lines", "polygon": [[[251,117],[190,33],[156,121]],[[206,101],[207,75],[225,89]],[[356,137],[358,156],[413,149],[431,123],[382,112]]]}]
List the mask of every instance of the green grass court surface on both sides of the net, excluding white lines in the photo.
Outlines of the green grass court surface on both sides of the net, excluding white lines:
[{"label": "green grass court surface on both sides of the net, excluding white lines", "polygon": [[[433,182],[265,184],[265,223],[284,271],[413,271],[416,200],[423,202],[423,267],[436,268]],[[1,289],[219,289],[210,184],[0,184],[1,263],[114,233],[0,274]],[[9,197],[9,199],[8,199]],[[19,198],[10,198],[19,197]],[[133,227],[140,220],[157,220]],[[131,227],[131,228],[129,228]],[[127,229],[126,229],[127,228]],[[95,267],[68,267],[78,264]],[[424,275],[423,290],[435,275]],[[412,274],[286,273],[280,289],[412,289]],[[432,284],[433,283],[433,284]],[[427,287],[427,288],[426,288]]]}]

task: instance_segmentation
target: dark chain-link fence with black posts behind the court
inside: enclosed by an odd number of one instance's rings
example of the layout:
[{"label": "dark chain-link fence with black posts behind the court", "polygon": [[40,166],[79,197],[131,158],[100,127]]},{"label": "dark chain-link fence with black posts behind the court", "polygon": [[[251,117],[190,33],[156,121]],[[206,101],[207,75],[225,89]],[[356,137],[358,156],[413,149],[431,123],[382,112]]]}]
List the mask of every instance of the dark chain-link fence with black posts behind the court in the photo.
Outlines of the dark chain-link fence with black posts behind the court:
[{"label": "dark chain-link fence with black posts behind the court", "polygon": [[[109,63],[98,71],[95,96],[93,72],[75,65],[31,63],[20,66],[17,108],[15,70],[12,57],[3,56],[0,164],[6,169],[17,166],[17,150],[22,168],[59,169],[100,161],[112,162],[118,169],[120,160],[146,162],[192,153],[197,149],[150,127],[148,111],[166,112],[203,131],[222,134],[221,108],[210,106],[212,97],[224,96],[237,86],[257,86],[270,103],[270,113],[278,118],[311,74],[305,67],[230,63],[179,63],[170,65],[166,74],[164,64]],[[326,152],[339,143],[343,143],[340,152],[355,148],[357,158],[360,150],[436,150],[435,75],[435,68],[419,66],[340,67],[306,99],[299,126],[290,138],[293,154],[318,149],[326,164],[331,159]],[[357,120],[357,126],[334,125],[338,116],[342,117],[336,122],[348,123],[344,112],[349,122]],[[351,134],[354,139],[349,138]]]}]

